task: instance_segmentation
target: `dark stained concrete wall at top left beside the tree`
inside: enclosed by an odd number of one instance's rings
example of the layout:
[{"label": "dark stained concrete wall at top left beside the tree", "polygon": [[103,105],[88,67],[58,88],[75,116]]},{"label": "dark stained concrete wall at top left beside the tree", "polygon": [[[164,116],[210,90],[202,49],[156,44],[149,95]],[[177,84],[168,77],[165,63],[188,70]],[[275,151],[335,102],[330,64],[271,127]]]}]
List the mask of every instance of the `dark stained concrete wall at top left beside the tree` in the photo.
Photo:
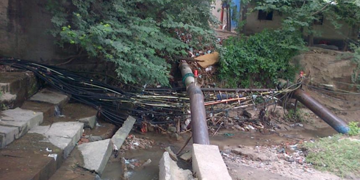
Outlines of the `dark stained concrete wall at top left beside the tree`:
[{"label": "dark stained concrete wall at top left beside the tree", "polygon": [[40,61],[58,57],[46,0],[0,0],[0,55]]}]

